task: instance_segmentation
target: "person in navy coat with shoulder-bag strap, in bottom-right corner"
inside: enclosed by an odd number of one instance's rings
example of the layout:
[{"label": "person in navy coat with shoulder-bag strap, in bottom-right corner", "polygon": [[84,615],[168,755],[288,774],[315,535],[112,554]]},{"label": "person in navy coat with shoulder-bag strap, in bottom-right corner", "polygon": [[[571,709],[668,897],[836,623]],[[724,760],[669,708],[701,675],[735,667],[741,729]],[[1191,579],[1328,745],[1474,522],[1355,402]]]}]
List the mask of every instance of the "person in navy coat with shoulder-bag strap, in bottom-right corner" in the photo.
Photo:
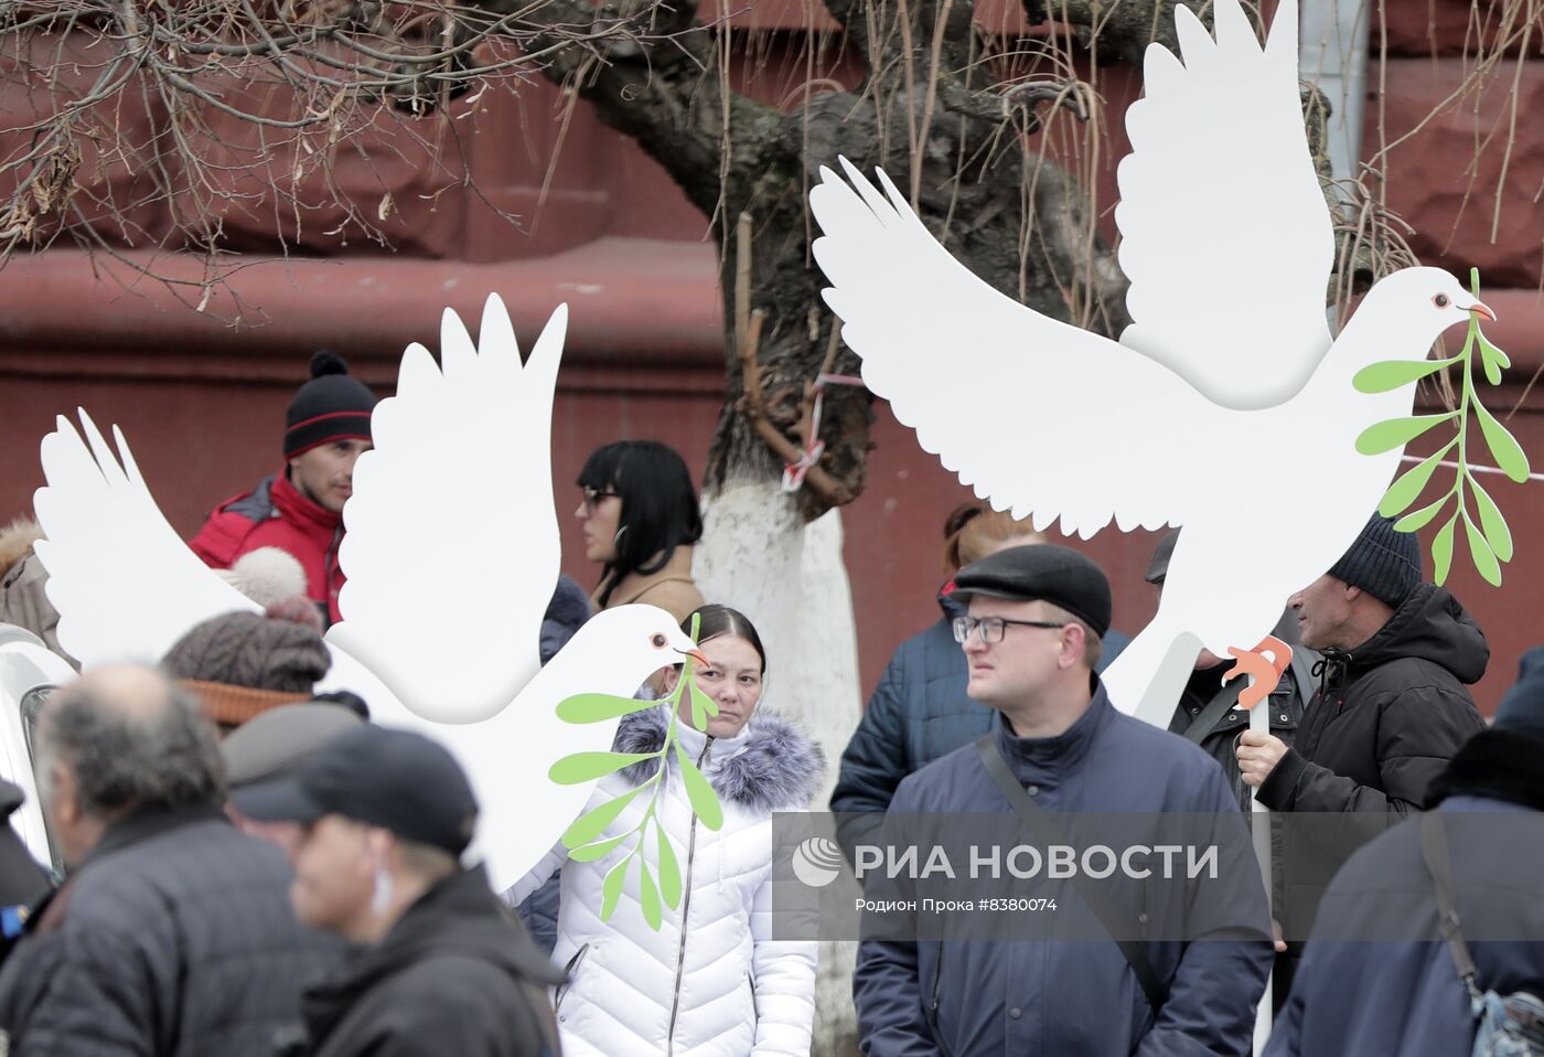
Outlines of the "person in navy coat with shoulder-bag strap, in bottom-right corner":
[{"label": "person in navy coat with shoulder-bag strap, in bottom-right corner", "polygon": [[[1541,760],[1544,647],[1535,647],[1495,725],[1459,749],[1430,791],[1479,991],[1544,997]],[[1471,1052],[1476,1018],[1439,936],[1419,825],[1411,819],[1363,847],[1329,885],[1266,1057]],[[1536,1031],[1544,1042],[1544,1021]]]}]

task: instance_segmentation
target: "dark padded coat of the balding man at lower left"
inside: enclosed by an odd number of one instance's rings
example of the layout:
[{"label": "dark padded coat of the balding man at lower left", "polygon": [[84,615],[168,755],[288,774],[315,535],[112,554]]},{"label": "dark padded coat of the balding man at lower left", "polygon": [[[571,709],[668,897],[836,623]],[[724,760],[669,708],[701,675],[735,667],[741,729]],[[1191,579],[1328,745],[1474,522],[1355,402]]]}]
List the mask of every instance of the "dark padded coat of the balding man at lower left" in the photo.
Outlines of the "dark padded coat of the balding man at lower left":
[{"label": "dark padded coat of the balding man at lower left", "polygon": [[340,944],[290,910],[284,855],[213,804],[116,822],[0,974],[9,1052],[266,1057]]}]

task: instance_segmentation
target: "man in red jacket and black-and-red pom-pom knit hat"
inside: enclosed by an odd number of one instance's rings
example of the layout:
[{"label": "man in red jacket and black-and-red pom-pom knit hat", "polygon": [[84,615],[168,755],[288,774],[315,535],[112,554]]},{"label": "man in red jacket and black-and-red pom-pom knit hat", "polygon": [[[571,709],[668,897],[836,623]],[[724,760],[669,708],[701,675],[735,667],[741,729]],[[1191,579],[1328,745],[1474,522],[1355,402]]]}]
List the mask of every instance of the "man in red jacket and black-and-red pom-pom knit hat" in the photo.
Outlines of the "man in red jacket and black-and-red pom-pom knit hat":
[{"label": "man in red jacket and black-and-red pom-pom knit hat", "polygon": [[343,589],[343,504],[355,461],[371,450],[375,396],[332,352],[313,355],[310,374],[286,416],[284,473],[215,507],[188,545],[212,569],[230,569],[258,547],[289,552],[306,570],[306,595],[330,624]]}]

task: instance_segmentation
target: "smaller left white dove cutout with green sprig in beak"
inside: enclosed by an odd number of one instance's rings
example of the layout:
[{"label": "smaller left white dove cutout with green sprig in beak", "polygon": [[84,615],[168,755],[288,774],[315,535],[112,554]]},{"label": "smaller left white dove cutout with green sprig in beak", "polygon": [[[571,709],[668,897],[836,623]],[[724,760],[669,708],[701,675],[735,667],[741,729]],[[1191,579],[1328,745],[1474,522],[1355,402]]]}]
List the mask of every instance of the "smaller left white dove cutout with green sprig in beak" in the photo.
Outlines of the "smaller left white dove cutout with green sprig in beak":
[{"label": "smaller left white dove cutout with green sprig in beak", "polygon": [[[611,746],[615,725],[567,723],[559,702],[630,697],[695,649],[667,612],[635,604],[594,615],[539,666],[557,581],[550,423],[565,326],[562,306],[522,366],[494,295],[480,346],[446,309],[442,365],[408,349],[397,396],[375,410],[377,447],[355,467],[343,623],[327,634],[334,663],[320,685],[451,749],[480,805],[472,856],[496,890],[533,868],[588,800],[590,783],[557,785],[551,765]],[[256,612],[167,522],[122,431],[114,454],[85,411],[80,423],[85,439],[63,417],[43,439],[48,484],[34,498],[60,646],[86,668],[156,663],[198,623]],[[443,530],[425,556],[432,518]]]}]

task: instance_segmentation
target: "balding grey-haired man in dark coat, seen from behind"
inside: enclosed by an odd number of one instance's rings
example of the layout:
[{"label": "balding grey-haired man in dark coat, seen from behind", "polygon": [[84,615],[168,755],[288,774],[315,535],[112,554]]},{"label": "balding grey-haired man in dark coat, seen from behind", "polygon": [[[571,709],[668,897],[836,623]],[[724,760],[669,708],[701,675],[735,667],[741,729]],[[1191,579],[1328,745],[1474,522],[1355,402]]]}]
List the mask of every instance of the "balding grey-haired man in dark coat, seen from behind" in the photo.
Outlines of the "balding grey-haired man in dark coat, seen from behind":
[{"label": "balding grey-haired man in dark coat, seen from behind", "polygon": [[215,731],[148,668],[96,668],[37,723],[68,878],[0,974],[0,1052],[272,1057],[338,961],[296,924],[284,856],[219,810]]}]

